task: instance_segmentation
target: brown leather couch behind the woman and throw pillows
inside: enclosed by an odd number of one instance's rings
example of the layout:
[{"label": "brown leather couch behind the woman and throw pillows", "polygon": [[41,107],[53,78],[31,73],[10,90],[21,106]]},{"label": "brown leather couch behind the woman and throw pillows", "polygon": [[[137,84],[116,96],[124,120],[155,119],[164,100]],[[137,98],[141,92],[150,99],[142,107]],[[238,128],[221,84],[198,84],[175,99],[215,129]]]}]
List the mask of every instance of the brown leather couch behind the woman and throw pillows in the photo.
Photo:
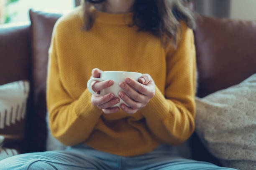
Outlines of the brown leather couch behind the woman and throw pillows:
[{"label": "brown leather couch behind the woman and throw pillows", "polygon": [[[46,150],[46,71],[51,33],[61,14],[29,11],[31,24],[0,28],[0,85],[29,80],[26,138],[22,152]],[[235,85],[256,72],[256,21],[200,17],[195,33],[198,90],[204,97]],[[218,164],[197,135],[190,147],[195,160]]]}]

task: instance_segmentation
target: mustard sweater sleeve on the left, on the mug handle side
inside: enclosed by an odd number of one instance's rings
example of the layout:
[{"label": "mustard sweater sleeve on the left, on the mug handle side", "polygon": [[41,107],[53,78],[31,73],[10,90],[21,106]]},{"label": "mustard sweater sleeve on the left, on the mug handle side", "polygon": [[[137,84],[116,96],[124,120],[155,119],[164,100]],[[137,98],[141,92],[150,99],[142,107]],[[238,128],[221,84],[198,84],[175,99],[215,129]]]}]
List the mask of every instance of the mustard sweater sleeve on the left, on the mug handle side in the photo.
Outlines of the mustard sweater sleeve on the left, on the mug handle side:
[{"label": "mustard sweater sleeve on the left, on the mug handle side", "polygon": [[[54,30],[55,32],[55,30]],[[78,99],[65,90],[59,74],[58,38],[53,33],[49,48],[46,101],[52,135],[64,145],[84,142],[92,133],[101,110],[91,104],[91,94],[84,88]]]}]

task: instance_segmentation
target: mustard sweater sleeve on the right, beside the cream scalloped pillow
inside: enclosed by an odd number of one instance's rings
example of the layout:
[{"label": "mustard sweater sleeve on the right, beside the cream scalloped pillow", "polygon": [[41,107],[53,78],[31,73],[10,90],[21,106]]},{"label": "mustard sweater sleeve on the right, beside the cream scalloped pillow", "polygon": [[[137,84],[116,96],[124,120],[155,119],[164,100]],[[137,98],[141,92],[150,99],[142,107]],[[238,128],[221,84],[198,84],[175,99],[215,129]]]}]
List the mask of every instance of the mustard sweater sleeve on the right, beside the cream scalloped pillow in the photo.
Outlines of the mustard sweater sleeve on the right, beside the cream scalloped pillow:
[{"label": "mustard sweater sleeve on the right, beside the cream scalloped pillow", "polygon": [[148,128],[161,143],[179,145],[195,129],[196,57],[191,29],[182,26],[176,50],[166,56],[164,94],[155,95],[143,108]]}]

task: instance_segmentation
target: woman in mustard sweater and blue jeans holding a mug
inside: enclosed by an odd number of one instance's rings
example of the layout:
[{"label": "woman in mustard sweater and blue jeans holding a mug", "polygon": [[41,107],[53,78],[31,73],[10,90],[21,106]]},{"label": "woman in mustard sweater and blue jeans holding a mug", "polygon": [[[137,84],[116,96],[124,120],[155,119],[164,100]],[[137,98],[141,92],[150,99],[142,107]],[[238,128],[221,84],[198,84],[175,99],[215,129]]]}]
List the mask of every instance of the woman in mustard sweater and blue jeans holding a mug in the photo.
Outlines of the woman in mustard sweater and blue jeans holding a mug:
[{"label": "woman in mustard sweater and blue jeans holding a mug", "polygon": [[[195,128],[195,21],[182,0],[86,0],[54,26],[47,107],[64,151],[28,153],[3,170],[224,170],[180,157]],[[81,30],[82,28],[82,30]],[[95,68],[96,67],[96,68]],[[87,90],[101,70],[142,72],[118,96]],[[98,92],[113,81],[95,82]],[[137,91],[136,91],[137,90]],[[12,165],[10,165],[12,164]]]}]

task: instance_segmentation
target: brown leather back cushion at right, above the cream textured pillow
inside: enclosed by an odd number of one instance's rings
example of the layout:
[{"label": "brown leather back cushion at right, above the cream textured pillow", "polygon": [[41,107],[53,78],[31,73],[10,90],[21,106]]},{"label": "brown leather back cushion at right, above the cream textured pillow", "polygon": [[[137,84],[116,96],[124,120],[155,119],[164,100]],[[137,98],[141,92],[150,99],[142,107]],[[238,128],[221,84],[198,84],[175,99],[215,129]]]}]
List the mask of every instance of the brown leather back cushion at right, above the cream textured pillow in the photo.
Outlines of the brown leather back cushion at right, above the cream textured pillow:
[{"label": "brown leather back cushion at right, above the cream textured pillow", "polygon": [[256,72],[256,21],[201,17],[195,30],[199,89],[204,97]]}]

